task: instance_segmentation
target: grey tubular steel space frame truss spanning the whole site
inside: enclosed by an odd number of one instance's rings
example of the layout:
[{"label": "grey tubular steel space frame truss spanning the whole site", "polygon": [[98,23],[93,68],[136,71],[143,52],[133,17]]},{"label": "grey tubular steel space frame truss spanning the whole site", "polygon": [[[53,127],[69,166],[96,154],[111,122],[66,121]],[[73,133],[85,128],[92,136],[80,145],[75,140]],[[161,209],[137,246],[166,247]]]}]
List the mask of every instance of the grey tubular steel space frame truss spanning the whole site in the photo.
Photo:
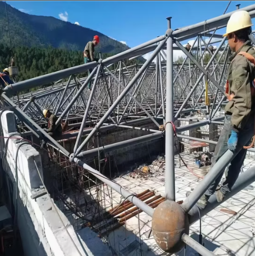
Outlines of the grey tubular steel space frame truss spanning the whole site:
[{"label": "grey tubular steel space frame truss spanning the whole site", "polygon": [[[255,4],[241,10],[249,11],[251,17],[255,17]],[[93,156],[95,153],[95,150],[84,149],[98,131],[117,127],[141,130],[135,124],[151,120],[159,127],[159,123],[163,122],[166,142],[165,196],[167,200],[175,201],[174,129],[171,123],[173,124],[181,114],[191,111],[200,111],[204,120],[177,127],[177,133],[223,120],[223,117],[216,117],[216,115],[220,107],[227,102],[224,86],[230,48],[226,37],[216,34],[216,31],[226,27],[232,13],[174,31],[171,29],[171,18],[168,18],[166,33],[156,39],[105,60],[100,59],[99,62],[87,63],[7,86],[1,95],[2,100],[5,105],[14,107],[13,111],[21,121],[19,125],[29,129],[23,133],[23,136],[34,134],[38,138],[47,139],[48,143],[66,155],[70,162],[86,169],[123,197],[127,197],[149,216],[153,216],[153,208],[84,163],[81,160],[83,157]],[[194,37],[195,43],[188,52],[181,42]],[[206,40],[205,37],[207,37]],[[254,42],[253,35],[251,40]],[[219,46],[211,52],[208,47],[217,42]],[[174,63],[174,50],[181,50],[185,54],[186,57],[181,64]],[[151,52],[151,56],[144,64],[128,67],[125,65],[125,59],[134,59]],[[210,55],[207,61],[206,54]],[[88,77],[81,79],[77,77],[77,74],[88,69],[92,69]],[[90,80],[93,86],[91,91],[88,91],[87,85]],[[16,95],[16,92],[24,89],[50,83],[54,84],[32,93]],[[10,95],[14,95],[12,99]],[[208,98],[211,98],[209,103]],[[201,99],[204,99],[204,103],[201,103]],[[63,138],[76,137],[74,152],[68,152],[42,129],[41,125],[46,123],[42,114],[43,108],[50,108],[56,114],[57,123],[62,120],[80,120],[80,123],[73,124],[73,127],[79,125],[79,131],[72,132],[71,135],[63,134]],[[69,125],[72,126],[72,124]],[[164,136],[164,132],[158,130],[143,130],[150,131],[151,134],[107,145],[107,150],[115,150]],[[84,140],[82,140],[83,135],[87,135]],[[215,143],[182,135],[178,137]],[[195,203],[234,156],[235,154],[228,150],[182,203],[182,209],[189,215],[190,225],[199,218]],[[240,174],[227,198],[255,181],[253,169]],[[209,206],[200,210],[201,216],[217,206],[215,196],[211,196]],[[201,255],[214,255],[187,235],[184,235],[182,240],[194,247]]]}]

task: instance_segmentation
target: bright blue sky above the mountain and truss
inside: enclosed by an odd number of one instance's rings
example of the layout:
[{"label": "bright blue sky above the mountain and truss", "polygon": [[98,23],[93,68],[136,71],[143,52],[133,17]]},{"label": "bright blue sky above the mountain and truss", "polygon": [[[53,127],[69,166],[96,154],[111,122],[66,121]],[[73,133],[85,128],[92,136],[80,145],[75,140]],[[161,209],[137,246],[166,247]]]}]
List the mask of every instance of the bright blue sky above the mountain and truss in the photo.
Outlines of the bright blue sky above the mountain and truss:
[{"label": "bright blue sky above the mountain and truss", "polygon": [[[53,16],[79,22],[124,41],[129,47],[163,35],[166,17],[172,16],[172,28],[184,27],[222,15],[228,1],[7,1],[12,7],[32,15]],[[232,1],[227,12],[254,4]],[[62,15],[61,15],[62,14]]]}]

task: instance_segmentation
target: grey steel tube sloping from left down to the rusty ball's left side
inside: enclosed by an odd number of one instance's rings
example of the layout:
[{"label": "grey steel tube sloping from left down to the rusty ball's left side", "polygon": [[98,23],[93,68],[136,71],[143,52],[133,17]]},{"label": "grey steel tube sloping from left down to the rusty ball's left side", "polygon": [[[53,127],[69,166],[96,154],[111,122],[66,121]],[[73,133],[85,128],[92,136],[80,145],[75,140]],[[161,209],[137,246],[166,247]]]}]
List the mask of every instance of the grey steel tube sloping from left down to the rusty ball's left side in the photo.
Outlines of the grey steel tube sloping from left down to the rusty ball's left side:
[{"label": "grey steel tube sloping from left down to the rusty ball's left side", "polygon": [[88,172],[93,174],[96,178],[101,180],[103,183],[106,183],[107,185],[109,185],[109,187],[114,189],[117,193],[121,194],[123,197],[126,197],[126,199],[128,201],[132,202],[135,206],[140,208],[143,212],[147,213],[151,217],[153,216],[154,209],[152,207],[149,207],[145,202],[142,202],[137,197],[135,197],[134,195],[130,194],[126,189],[122,188],[119,184],[117,184],[117,183],[115,183],[113,181],[110,181],[106,176],[102,175],[99,171],[91,168],[86,163],[83,163],[80,159],[75,157],[73,159],[73,161],[76,164],[79,164],[80,167],[86,169]]}]

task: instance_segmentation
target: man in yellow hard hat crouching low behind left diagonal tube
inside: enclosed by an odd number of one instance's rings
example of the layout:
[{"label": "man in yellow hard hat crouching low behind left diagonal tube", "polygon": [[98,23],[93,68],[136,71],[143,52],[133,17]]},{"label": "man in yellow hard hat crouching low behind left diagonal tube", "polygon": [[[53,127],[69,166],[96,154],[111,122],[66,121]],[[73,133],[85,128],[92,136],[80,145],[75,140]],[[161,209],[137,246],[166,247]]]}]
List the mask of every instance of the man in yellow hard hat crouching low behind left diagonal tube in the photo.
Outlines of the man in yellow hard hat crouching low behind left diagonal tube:
[{"label": "man in yellow hard hat crouching low behind left diagonal tube", "polygon": [[[57,117],[55,114],[51,114],[49,110],[43,110],[43,116],[48,118],[48,129],[44,129],[45,132],[48,133],[49,136],[53,137],[54,139],[61,138],[62,135],[62,126],[61,124],[56,125]],[[45,145],[45,141],[42,140],[42,148]]]}]

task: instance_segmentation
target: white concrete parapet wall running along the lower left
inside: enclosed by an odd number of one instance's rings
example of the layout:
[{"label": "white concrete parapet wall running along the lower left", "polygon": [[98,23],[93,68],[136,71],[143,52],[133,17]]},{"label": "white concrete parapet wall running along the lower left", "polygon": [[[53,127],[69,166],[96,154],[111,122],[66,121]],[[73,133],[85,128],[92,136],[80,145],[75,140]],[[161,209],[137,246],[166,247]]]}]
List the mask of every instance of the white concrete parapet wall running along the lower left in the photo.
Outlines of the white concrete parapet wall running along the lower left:
[{"label": "white concrete parapet wall running along the lower left", "polygon": [[[15,116],[11,111],[3,112],[1,125],[5,137],[16,132]],[[55,203],[53,204],[49,195],[42,195],[37,199],[31,198],[35,193],[42,191],[42,181],[38,175],[39,172],[43,178],[40,153],[30,144],[19,148],[23,142],[19,139],[9,139],[9,141],[4,139],[4,142],[7,153],[3,165],[11,178],[13,195],[16,195],[18,180],[18,227],[25,256],[112,255],[107,245],[104,245],[89,228],[82,229],[79,234],[76,233],[66,216],[60,212]],[[10,200],[13,200],[16,206],[16,197]]]}]

